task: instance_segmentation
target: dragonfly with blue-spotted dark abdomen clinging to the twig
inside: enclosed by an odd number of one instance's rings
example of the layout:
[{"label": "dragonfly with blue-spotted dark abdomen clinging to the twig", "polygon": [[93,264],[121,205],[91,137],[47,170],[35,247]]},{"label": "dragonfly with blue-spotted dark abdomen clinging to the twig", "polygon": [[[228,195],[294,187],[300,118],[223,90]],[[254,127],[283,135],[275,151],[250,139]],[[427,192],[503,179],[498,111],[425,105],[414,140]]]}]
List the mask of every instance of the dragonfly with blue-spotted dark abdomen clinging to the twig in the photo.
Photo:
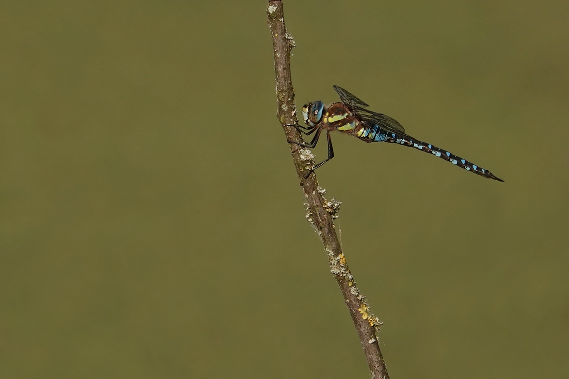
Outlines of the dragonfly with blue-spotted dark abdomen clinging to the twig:
[{"label": "dragonfly with blue-spotted dark abdomen clinging to the twig", "polygon": [[332,147],[330,132],[340,131],[345,134],[356,136],[368,143],[389,142],[413,147],[420,151],[431,153],[432,155],[449,161],[453,165],[459,166],[467,171],[485,178],[503,182],[503,180],[494,176],[494,174],[489,170],[470,163],[469,161],[438,148],[435,145],[425,143],[411,137],[406,134],[405,129],[396,120],[384,114],[375,113],[366,109],[369,105],[349,93],[347,90],[339,86],[334,86],[334,89],[340,95],[341,102],[333,103],[329,106],[325,106],[321,101],[308,103],[302,107],[302,115],[307,127],[300,126],[299,124],[293,125],[304,135],[314,134],[314,138],[312,138],[310,143],[306,143],[306,141],[303,141],[303,143],[288,141],[289,143],[307,148],[315,148],[320,134],[323,131],[326,131],[328,139],[327,159],[315,165],[306,174],[305,178],[308,178],[314,170],[334,157],[334,149]]}]

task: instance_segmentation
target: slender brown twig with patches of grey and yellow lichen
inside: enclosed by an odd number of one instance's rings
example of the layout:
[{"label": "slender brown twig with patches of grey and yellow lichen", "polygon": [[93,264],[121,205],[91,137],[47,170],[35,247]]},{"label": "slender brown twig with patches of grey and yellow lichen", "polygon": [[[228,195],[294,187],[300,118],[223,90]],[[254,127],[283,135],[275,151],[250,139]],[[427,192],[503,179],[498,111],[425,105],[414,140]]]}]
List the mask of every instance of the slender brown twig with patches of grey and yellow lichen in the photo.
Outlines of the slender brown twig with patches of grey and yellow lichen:
[{"label": "slender brown twig with patches of grey and yellow lichen", "polygon": [[[284,128],[284,134],[288,141],[302,142],[302,135],[292,125],[298,122],[294,103],[294,89],[292,88],[290,73],[290,52],[295,46],[294,39],[288,35],[284,26],[283,4],[280,0],[270,0],[267,8],[271,37],[273,38],[273,54],[275,61],[275,75],[277,82],[277,116]],[[306,218],[314,226],[316,233],[324,244],[324,250],[328,253],[330,268],[340,290],[344,295],[344,301],[348,306],[356,331],[360,337],[365,357],[368,360],[372,378],[388,379],[389,374],[385,368],[385,362],[381,355],[376,331],[381,323],[374,316],[364,295],[357,289],[352,273],[348,268],[342,252],[340,240],[336,234],[333,220],[337,218],[340,202],[324,198],[325,190],[318,186],[316,174],[312,173],[304,178],[307,170],[314,167],[314,156],[307,148],[290,144],[292,159],[296,166],[296,172],[300,185],[306,198]]]}]

